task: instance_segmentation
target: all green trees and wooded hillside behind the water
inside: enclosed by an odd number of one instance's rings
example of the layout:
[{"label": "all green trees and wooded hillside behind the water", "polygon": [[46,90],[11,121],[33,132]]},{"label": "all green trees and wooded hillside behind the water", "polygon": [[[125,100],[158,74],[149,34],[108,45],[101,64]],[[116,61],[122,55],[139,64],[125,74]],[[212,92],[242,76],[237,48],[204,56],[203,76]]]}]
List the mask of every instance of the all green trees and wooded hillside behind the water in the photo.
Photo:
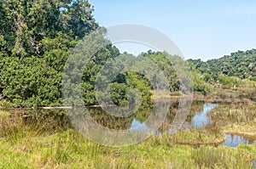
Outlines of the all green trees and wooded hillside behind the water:
[{"label": "all green trees and wooded hillside behind the water", "polygon": [[[100,28],[87,1],[2,1],[0,3],[0,98],[2,106],[38,107],[61,105],[61,77],[67,57],[83,37]],[[95,78],[102,65],[119,56],[119,49],[108,45],[84,67],[84,104],[97,104]],[[129,55],[126,53],[126,55]],[[242,79],[256,80],[256,50],[238,51],[220,59],[189,59],[194,91],[210,94],[212,87],[240,87]],[[170,91],[177,92],[177,72],[168,61],[175,56],[148,51],[141,54],[160,66],[172,79]],[[131,55],[131,57],[134,57]],[[168,69],[168,70],[167,70]],[[140,87],[138,85],[140,84]],[[111,84],[114,104],[127,103],[127,92],[138,87],[149,100],[152,87],[137,72],[125,72]]]}]

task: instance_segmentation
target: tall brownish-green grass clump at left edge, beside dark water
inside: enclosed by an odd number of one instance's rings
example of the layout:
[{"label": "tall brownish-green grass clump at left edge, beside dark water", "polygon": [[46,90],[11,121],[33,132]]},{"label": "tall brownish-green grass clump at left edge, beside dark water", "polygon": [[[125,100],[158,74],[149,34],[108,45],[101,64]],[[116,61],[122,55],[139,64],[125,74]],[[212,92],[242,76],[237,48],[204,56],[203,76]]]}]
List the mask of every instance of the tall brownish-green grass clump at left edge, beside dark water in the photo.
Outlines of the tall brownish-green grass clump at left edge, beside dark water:
[{"label": "tall brownish-green grass clump at left edge, beside dark water", "polygon": [[[17,115],[0,116],[0,138],[5,138],[9,143],[15,144],[22,138],[49,135],[66,130],[53,118],[55,115],[19,113]],[[56,115],[57,116],[57,115]]]}]

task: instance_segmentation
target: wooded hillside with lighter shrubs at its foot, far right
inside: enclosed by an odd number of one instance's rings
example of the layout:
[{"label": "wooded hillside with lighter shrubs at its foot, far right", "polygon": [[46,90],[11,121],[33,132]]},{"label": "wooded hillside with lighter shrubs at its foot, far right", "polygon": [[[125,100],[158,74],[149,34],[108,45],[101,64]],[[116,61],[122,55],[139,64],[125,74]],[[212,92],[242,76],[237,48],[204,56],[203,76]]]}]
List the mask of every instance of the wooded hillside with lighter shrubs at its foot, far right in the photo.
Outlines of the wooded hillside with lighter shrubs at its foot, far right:
[{"label": "wooded hillside with lighter shrubs at its foot, far right", "polygon": [[256,80],[256,49],[238,51],[206,62],[201,59],[189,59],[188,62],[195,76],[194,89],[204,94],[211,91],[211,86],[224,89],[252,87],[252,82],[243,80]]}]

